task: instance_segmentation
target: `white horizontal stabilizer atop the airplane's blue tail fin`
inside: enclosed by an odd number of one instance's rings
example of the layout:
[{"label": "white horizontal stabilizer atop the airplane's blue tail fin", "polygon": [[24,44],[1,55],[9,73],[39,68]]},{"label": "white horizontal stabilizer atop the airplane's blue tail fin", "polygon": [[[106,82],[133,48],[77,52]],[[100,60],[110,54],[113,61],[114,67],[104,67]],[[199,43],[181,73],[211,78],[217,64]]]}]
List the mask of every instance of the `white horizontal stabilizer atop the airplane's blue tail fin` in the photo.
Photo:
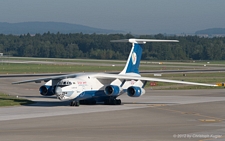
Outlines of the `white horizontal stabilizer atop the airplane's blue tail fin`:
[{"label": "white horizontal stabilizer atop the airplane's blue tail fin", "polygon": [[111,40],[110,42],[130,42],[130,43],[138,43],[145,44],[146,42],[179,42],[178,40],[157,40],[157,39],[121,39],[121,40]]}]

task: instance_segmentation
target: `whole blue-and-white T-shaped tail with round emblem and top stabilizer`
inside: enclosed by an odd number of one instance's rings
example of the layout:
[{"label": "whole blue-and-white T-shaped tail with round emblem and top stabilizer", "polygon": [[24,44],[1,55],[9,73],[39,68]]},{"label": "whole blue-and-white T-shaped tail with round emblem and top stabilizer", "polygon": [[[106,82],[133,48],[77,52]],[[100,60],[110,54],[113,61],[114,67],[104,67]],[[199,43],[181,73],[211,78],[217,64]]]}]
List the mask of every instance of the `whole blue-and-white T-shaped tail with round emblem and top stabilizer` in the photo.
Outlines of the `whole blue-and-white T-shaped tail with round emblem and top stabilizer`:
[{"label": "whole blue-and-white T-shaped tail with round emblem and top stabilizer", "polygon": [[132,43],[132,48],[130,55],[127,59],[127,63],[120,72],[120,74],[139,74],[139,65],[142,55],[142,45],[146,42],[179,42],[177,40],[155,40],[155,39],[123,39],[123,40],[112,40],[111,42],[130,42]]}]

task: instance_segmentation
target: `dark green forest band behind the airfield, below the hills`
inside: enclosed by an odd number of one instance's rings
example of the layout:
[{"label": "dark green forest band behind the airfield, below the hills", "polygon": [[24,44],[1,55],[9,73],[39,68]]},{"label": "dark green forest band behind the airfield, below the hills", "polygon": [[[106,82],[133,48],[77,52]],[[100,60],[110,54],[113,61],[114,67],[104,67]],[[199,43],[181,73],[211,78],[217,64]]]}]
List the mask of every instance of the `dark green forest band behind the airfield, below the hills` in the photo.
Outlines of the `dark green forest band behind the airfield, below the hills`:
[{"label": "dark green forest band behind the airfield, below the hills", "polygon": [[147,43],[143,60],[225,60],[225,37],[164,36],[131,34],[44,33],[30,35],[0,34],[0,52],[9,56],[44,58],[126,59],[130,43],[110,40],[144,38],[172,39],[179,43]]}]

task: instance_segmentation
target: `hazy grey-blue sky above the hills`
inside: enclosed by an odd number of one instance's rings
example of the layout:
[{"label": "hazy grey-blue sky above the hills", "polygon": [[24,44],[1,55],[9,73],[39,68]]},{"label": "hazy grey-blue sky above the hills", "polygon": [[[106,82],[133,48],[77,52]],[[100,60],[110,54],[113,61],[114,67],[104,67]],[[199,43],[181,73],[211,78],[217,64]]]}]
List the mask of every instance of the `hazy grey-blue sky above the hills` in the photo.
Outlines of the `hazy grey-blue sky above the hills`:
[{"label": "hazy grey-blue sky above the hills", "polygon": [[225,28],[225,0],[1,0],[0,22],[53,21],[130,33]]}]

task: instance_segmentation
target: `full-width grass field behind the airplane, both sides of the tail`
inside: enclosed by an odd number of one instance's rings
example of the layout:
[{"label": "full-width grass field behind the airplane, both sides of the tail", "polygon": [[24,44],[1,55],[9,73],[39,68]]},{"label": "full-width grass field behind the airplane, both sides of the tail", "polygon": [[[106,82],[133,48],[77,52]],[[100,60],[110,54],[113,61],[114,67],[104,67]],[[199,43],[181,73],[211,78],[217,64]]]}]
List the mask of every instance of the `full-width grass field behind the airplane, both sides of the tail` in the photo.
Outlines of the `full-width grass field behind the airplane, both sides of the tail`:
[{"label": "full-width grass field behind the airplane, both sides of the tail", "polygon": [[[2,57],[0,58],[0,74],[34,74],[34,73],[77,73],[77,72],[120,72],[126,61],[125,60],[97,60],[97,59],[61,59],[61,58],[34,58],[34,57]],[[8,61],[50,61],[52,64],[15,64],[7,63]],[[54,63],[56,62],[56,63]],[[61,62],[57,64],[57,62]],[[75,62],[75,64],[68,64]],[[159,64],[162,62],[162,64]],[[213,61],[211,61],[213,62]],[[207,64],[210,67],[218,67],[225,64],[225,61],[215,61],[218,64]],[[36,62],[37,63],[37,62]],[[206,61],[191,60],[184,61],[141,61],[140,71],[147,70],[184,70],[184,69],[202,69]],[[115,65],[114,67],[112,65]],[[225,66],[225,65],[223,65]]]}]

